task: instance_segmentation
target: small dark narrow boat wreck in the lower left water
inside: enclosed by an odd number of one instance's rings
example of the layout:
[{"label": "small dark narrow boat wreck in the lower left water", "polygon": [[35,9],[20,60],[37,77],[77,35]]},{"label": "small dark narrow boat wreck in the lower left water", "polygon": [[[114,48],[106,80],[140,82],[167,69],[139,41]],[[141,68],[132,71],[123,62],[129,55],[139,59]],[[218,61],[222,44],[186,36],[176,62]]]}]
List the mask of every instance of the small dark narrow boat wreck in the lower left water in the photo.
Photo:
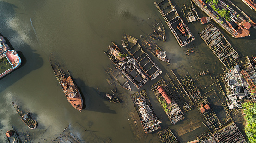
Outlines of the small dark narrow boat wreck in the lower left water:
[{"label": "small dark narrow boat wreck in the lower left water", "polygon": [[32,114],[30,112],[23,114],[22,111],[19,110],[18,105],[16,105],[14,102],[12,102],[12,105],[18,115],[20,116],[20,119],[30,128],[35,129],[37,127],[37,121],[32,118]]}]

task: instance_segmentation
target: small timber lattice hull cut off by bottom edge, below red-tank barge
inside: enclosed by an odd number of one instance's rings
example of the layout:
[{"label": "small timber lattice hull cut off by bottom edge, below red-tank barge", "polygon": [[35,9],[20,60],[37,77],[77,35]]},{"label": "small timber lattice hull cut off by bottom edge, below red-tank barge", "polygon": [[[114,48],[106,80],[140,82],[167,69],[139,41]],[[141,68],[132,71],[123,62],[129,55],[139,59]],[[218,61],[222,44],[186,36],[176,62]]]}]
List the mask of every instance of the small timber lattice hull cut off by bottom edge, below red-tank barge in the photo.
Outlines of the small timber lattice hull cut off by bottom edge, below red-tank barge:
[{"label": "small timber lattice hull cut off by bottom edge, below red-tank barge", "polygon": [[157,135],[162,141],[162,143],[178,143],[176,137],[173,135],[173,133],[168,127],[158,132]]}]

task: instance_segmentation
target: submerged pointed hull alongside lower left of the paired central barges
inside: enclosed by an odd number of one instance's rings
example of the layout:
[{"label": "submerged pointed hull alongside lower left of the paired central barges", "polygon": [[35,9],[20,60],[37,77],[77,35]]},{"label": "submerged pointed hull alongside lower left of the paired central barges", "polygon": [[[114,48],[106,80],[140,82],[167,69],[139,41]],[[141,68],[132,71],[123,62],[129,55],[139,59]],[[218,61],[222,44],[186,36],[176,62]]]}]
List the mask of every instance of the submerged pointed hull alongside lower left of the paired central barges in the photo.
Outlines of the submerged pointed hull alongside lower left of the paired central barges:
[{"label": "submerged pointed hull alongside lower left of the paired central barges", "polygon": [[117,69],[117,67],[114,67],[112,64],[108,65],[107,72],[110,74],[111,77],[113,77],[116,82],[122,86],[122,88],[131,90],[131,86],[126,79],[126,77]]}]

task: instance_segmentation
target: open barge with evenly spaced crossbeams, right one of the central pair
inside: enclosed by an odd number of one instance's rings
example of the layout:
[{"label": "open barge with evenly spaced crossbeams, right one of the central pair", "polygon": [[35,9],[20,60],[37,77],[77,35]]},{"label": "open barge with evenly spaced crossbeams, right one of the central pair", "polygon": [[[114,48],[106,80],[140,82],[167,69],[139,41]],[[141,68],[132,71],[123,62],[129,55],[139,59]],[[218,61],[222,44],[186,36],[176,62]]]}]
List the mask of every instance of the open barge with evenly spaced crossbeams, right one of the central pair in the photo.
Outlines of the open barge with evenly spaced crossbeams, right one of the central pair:
[{"label": "open barge with evenly spaced crossbeams, right one of the central pair", "polygon": [[126,34],[123,41],[125,41],[125,43],[130,42],[130,44],[132,44],[132,46],[126,46],[124,48],[127,50],[129,55],[135,59],[136,63],[138,63],[150,80],[154,80],[162,73],[162,70],[152,61],[146,51],[142,49],[138,43],[138,39]]}]

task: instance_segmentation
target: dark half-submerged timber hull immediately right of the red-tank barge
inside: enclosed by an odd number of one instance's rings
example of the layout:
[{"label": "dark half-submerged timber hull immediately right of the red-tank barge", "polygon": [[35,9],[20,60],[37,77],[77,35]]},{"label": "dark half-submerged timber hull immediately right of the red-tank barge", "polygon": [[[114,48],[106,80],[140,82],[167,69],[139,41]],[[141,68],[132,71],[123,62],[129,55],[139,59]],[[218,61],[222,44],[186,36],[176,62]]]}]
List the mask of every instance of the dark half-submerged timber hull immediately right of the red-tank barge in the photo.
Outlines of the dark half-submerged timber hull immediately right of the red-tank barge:
[{"label": "dark half-submerged timber hull immediately right of the red-tank barge", "polygon": [[[189,93],[185,90],[181,82],[178,80],[177,76],[174,74],[174,72],[171,69],[171,75],[169,76],[166,74],[169,78],[169,83],[171,86],[171,92],[175,99],[177,100],[177,103],[181,106],[184,112],[188,112],[194,107],[194,103],[189,97]],[[168,85],[167,84],[167,85]]]}]

